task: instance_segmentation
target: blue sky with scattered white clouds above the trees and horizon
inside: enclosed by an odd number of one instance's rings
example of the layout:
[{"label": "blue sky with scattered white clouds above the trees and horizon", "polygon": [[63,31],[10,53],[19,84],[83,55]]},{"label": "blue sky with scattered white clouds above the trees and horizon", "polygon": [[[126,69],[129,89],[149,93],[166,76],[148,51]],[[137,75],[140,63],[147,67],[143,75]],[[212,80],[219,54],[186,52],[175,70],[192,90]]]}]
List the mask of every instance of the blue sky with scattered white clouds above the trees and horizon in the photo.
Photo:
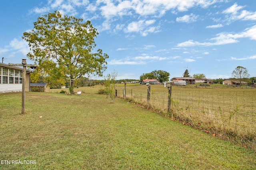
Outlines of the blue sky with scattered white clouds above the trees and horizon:
[{"label": "blue sky with scattered white clouds above the trees and horizon", "polygon": [[164,70],[172,78],[188,69],[216,79],[243,66],[256,76],[255,0],[1,0],[0,59],[21,63],[29,52],[23,33],[55,10],[98,29],[96,49],[109,55],[104,75]]}]

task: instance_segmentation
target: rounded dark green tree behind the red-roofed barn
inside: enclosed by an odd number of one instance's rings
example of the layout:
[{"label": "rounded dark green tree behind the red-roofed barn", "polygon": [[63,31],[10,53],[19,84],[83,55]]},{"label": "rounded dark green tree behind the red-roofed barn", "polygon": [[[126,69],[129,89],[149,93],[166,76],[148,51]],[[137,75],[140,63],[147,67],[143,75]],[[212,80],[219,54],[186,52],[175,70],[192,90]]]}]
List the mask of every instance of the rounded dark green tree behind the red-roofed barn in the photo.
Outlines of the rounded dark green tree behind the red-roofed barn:
[{"label": "rounded dark green tree behind the red-roofed barn", "polygon": [[140,82],[145,79],[156,79],[159,82],[168,82],[170,73],[163,70],[154,70],[150,73],[143,73],[140,76]]}]

